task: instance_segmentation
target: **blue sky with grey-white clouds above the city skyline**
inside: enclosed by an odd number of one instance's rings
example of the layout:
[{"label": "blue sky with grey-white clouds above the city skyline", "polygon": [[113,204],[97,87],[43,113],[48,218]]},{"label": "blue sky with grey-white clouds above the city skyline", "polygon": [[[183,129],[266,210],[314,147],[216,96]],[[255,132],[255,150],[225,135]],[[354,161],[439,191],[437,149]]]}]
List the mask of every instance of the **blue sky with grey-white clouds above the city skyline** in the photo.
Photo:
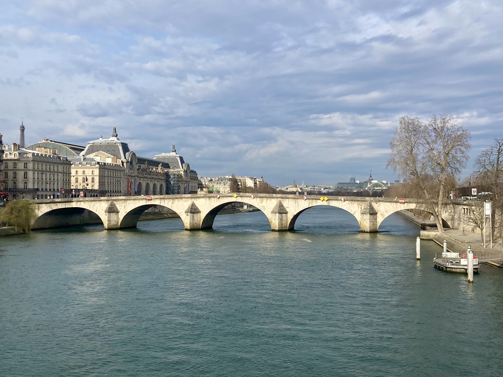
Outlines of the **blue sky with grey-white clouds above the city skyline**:
[{"label": "blue sky with grey-white clouds above the city skyline", "polygon": [[473,160],[502,138],[500,0],[0,2],[0,133],[273,185],[397,179],[404,115],[449,114]]}]

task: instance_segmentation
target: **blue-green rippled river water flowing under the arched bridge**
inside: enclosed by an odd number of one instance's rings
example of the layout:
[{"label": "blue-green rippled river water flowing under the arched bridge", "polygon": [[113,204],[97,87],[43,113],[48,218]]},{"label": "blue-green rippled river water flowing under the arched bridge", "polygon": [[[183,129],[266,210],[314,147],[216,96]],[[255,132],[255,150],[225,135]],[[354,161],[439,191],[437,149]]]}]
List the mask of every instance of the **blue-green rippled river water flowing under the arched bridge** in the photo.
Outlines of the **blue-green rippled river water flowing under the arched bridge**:
[{"label": "blue-green rippled river water flowing under the arched bridge", "polygon": [[416,261],[419,231],[316,207],[4,237],[0,375],[503,375],[503,270]]}]

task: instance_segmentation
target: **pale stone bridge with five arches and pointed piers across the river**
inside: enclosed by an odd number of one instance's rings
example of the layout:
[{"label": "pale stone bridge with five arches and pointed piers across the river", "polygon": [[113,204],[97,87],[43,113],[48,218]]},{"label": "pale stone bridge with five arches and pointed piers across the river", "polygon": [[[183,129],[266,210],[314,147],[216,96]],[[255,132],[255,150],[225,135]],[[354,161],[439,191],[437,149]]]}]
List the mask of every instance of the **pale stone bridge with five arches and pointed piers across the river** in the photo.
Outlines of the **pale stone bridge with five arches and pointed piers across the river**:
[{"label": "pale stone bridge with five arches and pointed piers across the river", "polygon": [[[135,228],[140,215],[153,206],[166,207],[176,212],[187,230],[211,229],[217,213],[225,206],[236,202],[252,205],[262,211],[267,216],[273,231],[293,230],[299,215],[315,206],[337,207],[348,211],[357,219],[360,230],[369,233],[377,232],[382,221],[394,212],[405,209],[426,210],[424,202],[414,199],[283,194],[68,198],[33,201],[37,217],[32,229],[79,225],[85,210],[94,212],[103,222],[105,229]],[[452,224],[455,211],[449,211],[447,204],[445,212],[446,223]]]}]

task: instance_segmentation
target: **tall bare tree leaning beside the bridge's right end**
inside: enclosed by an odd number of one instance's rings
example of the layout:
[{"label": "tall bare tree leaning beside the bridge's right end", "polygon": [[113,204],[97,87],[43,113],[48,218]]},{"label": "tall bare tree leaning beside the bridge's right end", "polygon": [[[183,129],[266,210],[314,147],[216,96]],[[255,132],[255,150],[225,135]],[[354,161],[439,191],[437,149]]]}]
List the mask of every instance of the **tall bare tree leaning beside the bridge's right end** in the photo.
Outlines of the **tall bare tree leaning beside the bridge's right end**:
[{"label": "tall bare tree leaning beside the bridge's right end", "polygon": [[455,187],[455,176],[466,166],[470,133],[449,115],[432,115],[428,123],[404,116],[390,142],[386,167],[416,187],[427,201],[439,231],[443,231],[443,203]]}]

